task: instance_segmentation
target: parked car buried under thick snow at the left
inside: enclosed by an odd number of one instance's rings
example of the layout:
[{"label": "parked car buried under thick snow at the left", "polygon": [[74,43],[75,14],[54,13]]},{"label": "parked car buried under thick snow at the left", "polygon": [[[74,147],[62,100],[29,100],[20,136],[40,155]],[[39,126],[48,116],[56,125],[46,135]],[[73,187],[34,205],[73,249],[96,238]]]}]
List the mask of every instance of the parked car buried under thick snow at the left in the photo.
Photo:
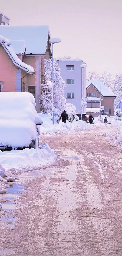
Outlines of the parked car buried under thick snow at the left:
[{"label": "parked car buried under thick snow at the left", "polygon": [[0,92],[0,150],[37,148],[43,120],[29,92]]}]

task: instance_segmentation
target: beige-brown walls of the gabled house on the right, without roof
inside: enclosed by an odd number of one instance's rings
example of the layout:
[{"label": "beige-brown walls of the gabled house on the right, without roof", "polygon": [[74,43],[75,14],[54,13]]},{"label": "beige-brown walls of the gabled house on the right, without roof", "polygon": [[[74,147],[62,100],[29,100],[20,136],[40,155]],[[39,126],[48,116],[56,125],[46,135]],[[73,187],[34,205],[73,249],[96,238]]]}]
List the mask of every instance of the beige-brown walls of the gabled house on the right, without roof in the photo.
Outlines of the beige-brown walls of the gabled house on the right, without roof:
[{"label": "beige-brown walls of the gabled house on the right, without roof", "polygon": [[[86,93],[91,93],[92,97],[92,93],[96,93],[98,98],[100,98],[100,92],[98,92],[93,85],[90,85],[89,88],[86,89]],[[88,97],[88,96],[87,96]],[[104,106],[104,108],[109,108],[111,109],[111,114],[107,114],[107,116],[113,116],[114,115],[114,97],[103,97],[101,95],[101,99],[103,99],[101,101],[101,105]],[[95,97],[94,97],[95,100]],[[93,107],[93,106],[92,106]]]}]

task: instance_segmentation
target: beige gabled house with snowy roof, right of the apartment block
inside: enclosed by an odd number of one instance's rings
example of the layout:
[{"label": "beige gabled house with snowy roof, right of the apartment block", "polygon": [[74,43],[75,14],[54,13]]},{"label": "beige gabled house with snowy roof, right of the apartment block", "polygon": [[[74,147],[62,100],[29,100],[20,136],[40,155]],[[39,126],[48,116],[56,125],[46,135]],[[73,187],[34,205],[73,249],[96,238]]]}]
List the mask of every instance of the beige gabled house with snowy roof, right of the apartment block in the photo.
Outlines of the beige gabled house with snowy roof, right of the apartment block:
[{"label": "beige gabled house with snowy roof, right of the apartment block", "polygon": [[91,79],[86,81],[86,96],[88,98],[86,114],[92,114],[93,117],[99,116],[100,112],[100,92],[101,105],[104,106],[102,114],[107,116],[114,115],[114,99],[116,95],[98,79]]}]

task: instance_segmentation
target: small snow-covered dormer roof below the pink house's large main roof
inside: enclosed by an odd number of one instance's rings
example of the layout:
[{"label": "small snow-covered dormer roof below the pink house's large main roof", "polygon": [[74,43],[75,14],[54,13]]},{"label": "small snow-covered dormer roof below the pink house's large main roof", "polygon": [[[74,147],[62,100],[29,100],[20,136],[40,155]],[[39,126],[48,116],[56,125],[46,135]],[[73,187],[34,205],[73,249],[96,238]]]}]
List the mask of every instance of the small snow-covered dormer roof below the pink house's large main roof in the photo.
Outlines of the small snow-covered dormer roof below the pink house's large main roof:
[{"label": "small snow-covered dormer roof below the pink house's large main roof", "polygon": [[25,52],[24,40],[10,40],[10,44],[16,54],[23,54]]}]

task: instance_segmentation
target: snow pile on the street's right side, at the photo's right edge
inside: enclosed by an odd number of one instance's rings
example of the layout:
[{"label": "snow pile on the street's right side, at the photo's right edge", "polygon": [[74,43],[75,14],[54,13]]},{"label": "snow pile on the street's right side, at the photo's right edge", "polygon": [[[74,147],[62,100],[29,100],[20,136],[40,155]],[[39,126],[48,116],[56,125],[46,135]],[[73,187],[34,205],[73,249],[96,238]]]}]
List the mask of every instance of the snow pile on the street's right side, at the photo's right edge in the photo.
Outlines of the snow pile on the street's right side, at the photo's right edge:
[{"label": "snow pile on the street's right side, at the photo's right edge", "polygon": [[113,142],[114,145],[120,146],[120,148],[122,148],[122,127],[118,126],[117,132],[112,135],[107,134],[107,139]]}]

